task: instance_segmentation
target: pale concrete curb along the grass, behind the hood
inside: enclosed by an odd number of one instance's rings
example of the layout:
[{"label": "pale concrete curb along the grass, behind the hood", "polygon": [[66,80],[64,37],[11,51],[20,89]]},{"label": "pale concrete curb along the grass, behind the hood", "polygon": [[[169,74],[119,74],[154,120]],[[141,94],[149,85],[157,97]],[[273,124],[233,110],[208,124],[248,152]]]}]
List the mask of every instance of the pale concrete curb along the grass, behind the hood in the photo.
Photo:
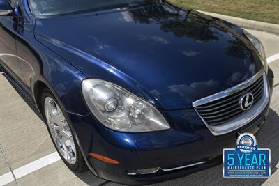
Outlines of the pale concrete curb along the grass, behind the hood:
[{"label": "pale concrete curb along the grass, behind the hood", "polygon": [[252,29],[257,31],[266,31],[269,33],[275,33],[276,35],[279,35],[279,24],[271,24],[266,22],[257,22],[253,20],[246,20],[239,17],[232,17],[228,15],[220,15],[217,13],[208,13],[204,11],[197,10],[199,13],[204,13],[206,15],[210,15],[212,17],[217,17],[222,20],[226,20],[228,22],[232,22],[233,24],[236,24],[237,26],[241,26],[245,29]]}]

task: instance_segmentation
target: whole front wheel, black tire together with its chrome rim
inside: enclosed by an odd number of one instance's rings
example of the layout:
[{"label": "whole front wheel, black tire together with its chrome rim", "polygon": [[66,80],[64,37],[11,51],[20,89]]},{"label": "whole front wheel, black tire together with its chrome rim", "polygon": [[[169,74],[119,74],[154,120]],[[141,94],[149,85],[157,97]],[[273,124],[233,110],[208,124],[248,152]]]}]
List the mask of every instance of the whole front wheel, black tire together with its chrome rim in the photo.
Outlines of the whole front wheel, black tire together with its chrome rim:
[{"label": "whole front wheel, black tire together with its chrome rim", "polygon": [[[47,109],[45,109],[45,102],[47,102],[46,103]],[[52,103],[51,104],[52,106],[50,106],[49,104],[50,102]],[[56,107],[54,105],[56,105]],[[56,110],[49,109],[50,107],[56,108]],[[59,153],[61,160],[63,160],[66,166],[68,166],[68,168],[75,173],[82,173],[84,171],[87,171],[88,167],[86,165],[86,162],[84,161],[84,157],[82,156],[80,147],[77,145],[77,139],[75,137],[75,133],[73,132],[74,130],[72,125],[70,124],[66,111],[63,110],[63,107],[61,107],[61,105],[56,100],[52,92],[47,88],[43,90],[43,93],[41,95],[41,108],[43,111],[43,116],[45,118],[45,124],[47,125],[47,131],[50,134],[52,143],[54,144],[57,152]],[[48,116],[47,113],[49,113]],[[64,118],[64,120],[63,119],[59,120],[60,118]],[[56,123],[59,122],[55,123],[54,121],[61,121],[62,124],[60,123],[58,125]],[[63,125],[63,129],[61,129],[62,128],[61,125]],[[56,130],[57,128],[59,128],[59,130]],[[66,132],[61,132],[61,131],[66,131]],[[65,141],[65,143],[63,141]]]}]

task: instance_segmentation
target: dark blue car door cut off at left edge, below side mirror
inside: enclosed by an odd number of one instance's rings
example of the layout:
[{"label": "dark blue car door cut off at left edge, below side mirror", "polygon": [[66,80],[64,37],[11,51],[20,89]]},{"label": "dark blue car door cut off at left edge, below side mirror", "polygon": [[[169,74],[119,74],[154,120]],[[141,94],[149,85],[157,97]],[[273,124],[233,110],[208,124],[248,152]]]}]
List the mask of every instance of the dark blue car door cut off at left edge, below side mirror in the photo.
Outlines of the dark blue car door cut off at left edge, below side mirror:
[{"label": "dark blue car door cut off at left edge, below side mirror", "polygon": [[[16,0],[8,0],[10,6],[17,6]],[[0,16],[0,63],[4,70],[9,72],[15,80],[23,82],[20,63],[17,59],[16,51],[16,36],[17,36],[17,15]]]}]

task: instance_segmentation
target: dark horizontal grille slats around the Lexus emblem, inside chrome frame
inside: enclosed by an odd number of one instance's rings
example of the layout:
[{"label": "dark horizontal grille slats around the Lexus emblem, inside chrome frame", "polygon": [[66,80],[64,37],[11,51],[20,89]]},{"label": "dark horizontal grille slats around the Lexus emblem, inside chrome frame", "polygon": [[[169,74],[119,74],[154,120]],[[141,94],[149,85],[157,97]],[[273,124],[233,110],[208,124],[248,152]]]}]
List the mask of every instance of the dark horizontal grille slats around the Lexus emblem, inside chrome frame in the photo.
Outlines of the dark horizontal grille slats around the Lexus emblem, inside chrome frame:
[{"label": "dark horizontal grille slats around the Lexus emblem, inside chrome frame", "polygon": [[[234,120],[246,111],[241,109],[240,100],[246,93],[252,93],[254,102],[252,107],[259,102],[264,95],[264,77],[257,75],[249,86],[239,90],[235,89],[229,92],[223,98],[212,100],[195,107],[204,121],[212,126],[223,125],[228,121]],[[252,81],[251,80],[251,81]],[[251,108],[252,108],[251,107]]]}]

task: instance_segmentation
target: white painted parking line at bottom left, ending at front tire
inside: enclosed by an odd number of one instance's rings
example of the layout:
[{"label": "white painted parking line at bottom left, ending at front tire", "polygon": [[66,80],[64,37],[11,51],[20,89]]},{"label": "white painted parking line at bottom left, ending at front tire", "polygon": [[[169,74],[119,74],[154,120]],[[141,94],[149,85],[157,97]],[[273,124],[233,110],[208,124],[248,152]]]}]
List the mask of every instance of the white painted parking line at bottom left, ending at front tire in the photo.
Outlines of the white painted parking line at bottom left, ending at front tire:
[{"label": "white painted parking line at bottom left, ending at front tire", "polygon": [[[42,157],[34,162],[31,162],[29,164],[21,166],[18,169],[13,170],[13,173],[15,174],[15,178],[19,179],[19,178],[22,178],[23,176],[27,176],[27,174],[29,174],[29,173],[38,171],[38,169],[41,169],[49,164],[59,161],[59,160],[61,160],[61,158],[57,152],[51,153],[50,155],[46,155],[45,157]],[[0,176],[0,185],[6,185],[13,181],[14,181],[14,178],[13,178],[13,175],[11,172],[5,173]]]}]

